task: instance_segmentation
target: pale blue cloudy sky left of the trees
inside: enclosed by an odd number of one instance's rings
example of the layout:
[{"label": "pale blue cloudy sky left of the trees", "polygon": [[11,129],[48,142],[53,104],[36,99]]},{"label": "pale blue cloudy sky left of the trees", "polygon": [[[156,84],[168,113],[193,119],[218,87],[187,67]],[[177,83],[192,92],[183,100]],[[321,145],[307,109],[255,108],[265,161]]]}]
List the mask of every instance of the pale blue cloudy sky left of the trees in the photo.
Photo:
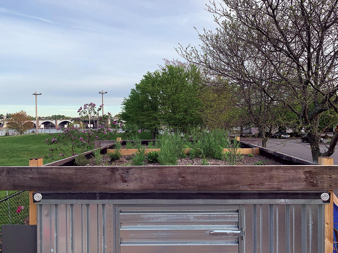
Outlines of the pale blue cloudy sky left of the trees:
[{"label": "pale blue cloudy sky left of the trees", "polygon": [[216,26],[208,0],[0,1],[0,114],[71,117],[85,103],[113,115],[163,58],[183,60],[178,43],[198,46]]}]

